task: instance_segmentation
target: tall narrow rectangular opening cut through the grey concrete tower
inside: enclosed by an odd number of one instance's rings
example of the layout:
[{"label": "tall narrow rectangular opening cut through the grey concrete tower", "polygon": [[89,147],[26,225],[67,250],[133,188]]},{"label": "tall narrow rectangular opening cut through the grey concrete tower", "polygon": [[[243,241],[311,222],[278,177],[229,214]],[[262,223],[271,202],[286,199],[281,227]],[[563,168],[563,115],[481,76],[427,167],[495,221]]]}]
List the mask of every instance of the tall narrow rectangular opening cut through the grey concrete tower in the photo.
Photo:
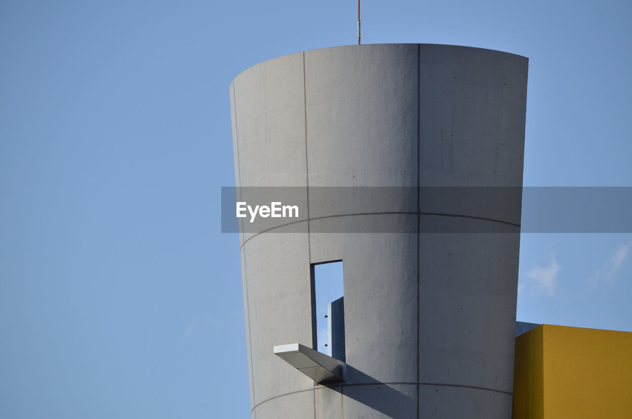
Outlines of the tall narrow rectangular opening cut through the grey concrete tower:
[{"label": "tall narrow rectangular opening cut through the grey concrete tower", "polygon": [[314,263],[311,268],[313,348],[345,361],[343,261]]}]

